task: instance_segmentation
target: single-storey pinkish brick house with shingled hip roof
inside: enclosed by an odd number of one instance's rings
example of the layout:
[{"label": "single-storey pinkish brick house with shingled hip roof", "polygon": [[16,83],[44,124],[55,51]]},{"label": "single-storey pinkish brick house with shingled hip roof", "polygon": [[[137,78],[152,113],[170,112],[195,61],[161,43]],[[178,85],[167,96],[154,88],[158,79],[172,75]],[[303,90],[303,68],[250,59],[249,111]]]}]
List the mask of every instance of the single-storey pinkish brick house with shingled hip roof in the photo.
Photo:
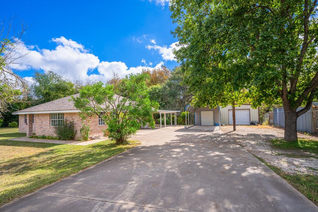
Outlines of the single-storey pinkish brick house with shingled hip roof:
[{"label": "single-storey pinkish brick house with shingled hip roof", "polygon": [[[74,97],[79,94],[73,95]],[[74,107],[73,101],[69,101],[71,96],[66,96],[51,102],[36,105],[24,110],[16,111],[12,114],[19,115],[19,133],[26,133],[26,136],[36,135],[55,136],[54,126],[64,119],[74,121],[77,130],[75,139],[80,139],[79,130],[82,123],[90,125],[89,136],[102,136],[102,129],[106,129],[105,122],[100,116],[91,116],[87,120],[79,117],[79,110]]]}]

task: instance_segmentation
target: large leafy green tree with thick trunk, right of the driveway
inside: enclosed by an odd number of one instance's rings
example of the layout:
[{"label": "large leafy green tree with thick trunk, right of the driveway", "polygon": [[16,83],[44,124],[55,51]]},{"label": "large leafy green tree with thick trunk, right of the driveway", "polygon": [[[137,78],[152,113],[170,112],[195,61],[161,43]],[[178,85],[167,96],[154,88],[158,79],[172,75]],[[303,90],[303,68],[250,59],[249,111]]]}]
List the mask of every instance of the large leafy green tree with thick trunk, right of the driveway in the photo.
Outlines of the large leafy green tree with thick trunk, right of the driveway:
[{"label": "large leafy green tree with thick trunk, right of the driveway", "polygon": [[197,101],[245,91],[254,107],[282,103],[284,138],[296,140],[297,118],[317,98],[317,0],[172,0],[170,10]]}]

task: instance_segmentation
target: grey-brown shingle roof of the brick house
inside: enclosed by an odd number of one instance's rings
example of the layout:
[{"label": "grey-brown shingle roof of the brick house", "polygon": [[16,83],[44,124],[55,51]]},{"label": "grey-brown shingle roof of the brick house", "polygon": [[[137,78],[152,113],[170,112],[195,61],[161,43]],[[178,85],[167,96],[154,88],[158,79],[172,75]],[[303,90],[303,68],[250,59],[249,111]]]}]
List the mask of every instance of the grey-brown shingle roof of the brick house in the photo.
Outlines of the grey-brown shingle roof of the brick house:
[{"label": "grey-brown shingle roof of the brick house", "polygon": [[74,107],[73,101],[69,101],[71,96],[77,97],[79,94],[66,96],[57,100],[53,100],[51,102],[46,102],[43,104],[39,104],[33,106],[31,108],[26,108],[23,110],[16,111],[18,112],[38,112],[38,111],[55,111],[55,110],[78,110]]}]

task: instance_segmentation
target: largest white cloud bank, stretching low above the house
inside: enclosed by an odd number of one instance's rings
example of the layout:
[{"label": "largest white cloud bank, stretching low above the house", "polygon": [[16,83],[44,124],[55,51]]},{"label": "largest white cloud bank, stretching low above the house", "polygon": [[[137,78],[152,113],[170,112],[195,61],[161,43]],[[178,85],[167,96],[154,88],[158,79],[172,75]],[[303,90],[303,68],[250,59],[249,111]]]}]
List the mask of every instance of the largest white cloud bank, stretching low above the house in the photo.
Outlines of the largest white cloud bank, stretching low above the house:
[{"label": "largest white cloud bank, stretching low above the house", "polygon": [[[97,56],[88,53],[85,46],[71,39],[66,39],[63,36],[53,38],[52,41],[57,45],[55,49],[35,49],[34,46],[21,44],[19,51],[28,52],[28,54],[19,61],[24,63],[24,65],[16,67],[13,65],[11,68],[18,70],[41,69],[45,72],[52,70],[69,80],[81,78],[103,82],[106,82],[112,77],[113,71],[123,77],[130,73],[139,73],[142,71],[142,68],[153,68],[147,65],[128,68],[127,65],[121,61],[100,61]],[[144,63],[145,62],[146,60],[144,60]],[[161,66],[162,64],[163,62],[158,65]],[[97,68],[99,74],[89,74],[95,68]],[[31,81],[30,77],[25,77],[25,79]]]}]

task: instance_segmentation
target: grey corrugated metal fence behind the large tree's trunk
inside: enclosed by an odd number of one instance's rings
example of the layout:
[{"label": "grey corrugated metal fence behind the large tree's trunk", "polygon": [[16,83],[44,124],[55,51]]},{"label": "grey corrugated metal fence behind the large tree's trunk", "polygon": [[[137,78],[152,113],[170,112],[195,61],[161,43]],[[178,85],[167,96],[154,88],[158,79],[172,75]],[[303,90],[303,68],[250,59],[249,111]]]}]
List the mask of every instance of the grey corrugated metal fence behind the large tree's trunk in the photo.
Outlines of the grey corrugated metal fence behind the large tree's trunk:
[{"label": "grey corrugated metal fence behind the large tree's trunk", "polygon": [[[297,109],[301,110],[304,107],[299,107]],[[303,131],[303,132],[309,132],[314,133],[313,129],[313,107],[311,107],[306,113],[298,117],[297,119],[297,131]],[[285,127],[285,114],[284,114],[284,108],[274,108],[273,109],[274,114],[274,125]]]}]

